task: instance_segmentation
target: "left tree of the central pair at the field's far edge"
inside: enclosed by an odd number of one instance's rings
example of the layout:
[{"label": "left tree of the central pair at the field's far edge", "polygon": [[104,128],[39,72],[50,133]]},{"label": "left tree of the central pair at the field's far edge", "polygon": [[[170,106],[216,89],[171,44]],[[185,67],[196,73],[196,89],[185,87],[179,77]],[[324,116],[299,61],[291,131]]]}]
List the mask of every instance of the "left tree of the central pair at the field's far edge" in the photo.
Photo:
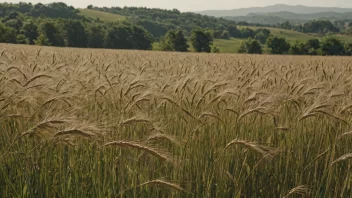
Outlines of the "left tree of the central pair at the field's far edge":
[{"label": "left tree of the central pair at the field's far edge", "polygon": [[187,39],[180,29],[168,31],[161,41],[161,49],[163,51],[187,52],[188,47]]}]

